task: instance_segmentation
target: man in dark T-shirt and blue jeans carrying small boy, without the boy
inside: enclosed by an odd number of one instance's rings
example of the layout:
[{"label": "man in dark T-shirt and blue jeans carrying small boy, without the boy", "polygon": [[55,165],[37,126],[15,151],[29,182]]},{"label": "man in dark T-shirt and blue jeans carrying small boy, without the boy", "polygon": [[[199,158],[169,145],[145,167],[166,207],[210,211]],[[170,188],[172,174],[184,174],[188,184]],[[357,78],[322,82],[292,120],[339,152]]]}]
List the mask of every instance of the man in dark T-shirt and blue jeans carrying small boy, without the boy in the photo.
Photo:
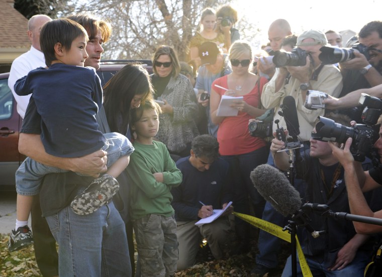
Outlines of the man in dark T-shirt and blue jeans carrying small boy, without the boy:
[{"label": "man in dark T-shirt and blue jeans carrying small boy, without the boy", "polygon": [[[86,15],[74,17],[72,19],[83,25],[89,36],[86,45],[89,58],[84,65],[98,69],[103,52],[101,44],[109,40],[111,27],[105,21]],[[20,152],[43,164],[73,171],[47,175],[40,191],[43,216],[47,217],[52,232],[58,238],[60,251],[65,251],[65,254],[60,252],[59,275],[101,276],[109,272],[113,276],[131,276],[125,225],[113,202],[88,215],[76,215],[68,206],[74,196],[87,187],[89,179],[93,179],[74,172],[89,176],[105,172],[105,152],[98,150],[80,158],[51,156],[41,143],[40,122],[36,110],[30,110],[30,114],[27,111],[23,122],[23,129],[27,132],[20,134]],[[65,236],[64,232],[69,235]]]}]

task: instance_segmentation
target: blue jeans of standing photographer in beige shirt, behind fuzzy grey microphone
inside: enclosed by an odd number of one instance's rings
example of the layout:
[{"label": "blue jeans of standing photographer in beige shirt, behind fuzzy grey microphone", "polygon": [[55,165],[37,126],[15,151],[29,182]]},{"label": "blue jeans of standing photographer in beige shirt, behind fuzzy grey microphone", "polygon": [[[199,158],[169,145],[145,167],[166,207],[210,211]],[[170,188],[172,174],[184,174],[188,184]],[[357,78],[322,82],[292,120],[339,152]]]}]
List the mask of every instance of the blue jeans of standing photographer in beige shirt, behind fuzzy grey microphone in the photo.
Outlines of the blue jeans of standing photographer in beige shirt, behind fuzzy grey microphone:
[{"label": "blue jeans of standing photographer in beige shirt, behind fuzzy grey microphone", "polygon": [[[303,153],[303,150],[304,148],[301,148],[301,153]],[[272,153],[269,153],[267,164],[274,167]],[[295,179],[294,183],[294,187],[299,191],[301,197],[304,197],[306,182],[301,179]],[[270,202],[267,201],[265,203],[262,219],[280,227],[284,227],[288,224],[290,218],[282,216],[272,207]],[[277,256],[281,248],[281,239],[268,232],[260,230],[257,247],[259,252],[256,254],[256,264],[261,264],[268,268],[275,268],[278,264]]]}]

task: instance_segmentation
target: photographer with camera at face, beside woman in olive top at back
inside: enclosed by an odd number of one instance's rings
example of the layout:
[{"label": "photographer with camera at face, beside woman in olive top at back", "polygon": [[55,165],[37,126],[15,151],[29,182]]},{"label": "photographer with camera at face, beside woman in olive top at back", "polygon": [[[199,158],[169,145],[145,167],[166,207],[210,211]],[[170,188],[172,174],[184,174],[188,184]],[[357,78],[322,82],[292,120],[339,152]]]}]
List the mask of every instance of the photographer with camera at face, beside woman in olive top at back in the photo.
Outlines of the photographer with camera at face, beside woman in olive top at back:
[{"label": "photographer with camera at face, beside woman in olive top at back", "polygon": [[240,40],[239,30],[234,28],[237,22],[237,11],[230,5],[224,5],[216,12],[216,17],[215,30],[218,33],[223,33],[225,47],[230,49],[232,43]]}]

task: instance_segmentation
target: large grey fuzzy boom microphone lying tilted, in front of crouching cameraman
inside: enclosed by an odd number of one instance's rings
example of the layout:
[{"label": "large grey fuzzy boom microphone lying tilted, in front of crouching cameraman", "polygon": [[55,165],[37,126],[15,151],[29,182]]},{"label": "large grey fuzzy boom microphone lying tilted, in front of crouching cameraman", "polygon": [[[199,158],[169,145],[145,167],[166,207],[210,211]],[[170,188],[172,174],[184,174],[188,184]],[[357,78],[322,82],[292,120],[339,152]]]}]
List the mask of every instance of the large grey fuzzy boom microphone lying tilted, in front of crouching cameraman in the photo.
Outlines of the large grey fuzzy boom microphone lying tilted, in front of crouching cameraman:
[{"label": "large grey fuzzy boom microphone lying tilted, in front of crouching cameraman", "polygon": [[278,169],[267,164],[260,165],[251,172],[250,178],[261,196],[283,216],[300,210],[300,193]]}]

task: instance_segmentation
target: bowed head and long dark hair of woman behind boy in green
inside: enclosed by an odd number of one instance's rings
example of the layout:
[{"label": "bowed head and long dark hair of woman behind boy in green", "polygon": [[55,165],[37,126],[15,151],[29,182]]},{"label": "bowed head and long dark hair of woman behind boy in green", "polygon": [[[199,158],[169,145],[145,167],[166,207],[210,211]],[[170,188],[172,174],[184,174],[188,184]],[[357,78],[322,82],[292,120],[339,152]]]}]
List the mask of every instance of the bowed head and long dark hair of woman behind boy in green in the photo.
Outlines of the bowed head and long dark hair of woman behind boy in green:
[{"label": "bowed head and long dark hair of woman behind boy in green", "polygon": [[140,64],[128,64],[104,86],[104,107],[110,129],[131,138],[130,109],[152,99],[150,76]]}]

